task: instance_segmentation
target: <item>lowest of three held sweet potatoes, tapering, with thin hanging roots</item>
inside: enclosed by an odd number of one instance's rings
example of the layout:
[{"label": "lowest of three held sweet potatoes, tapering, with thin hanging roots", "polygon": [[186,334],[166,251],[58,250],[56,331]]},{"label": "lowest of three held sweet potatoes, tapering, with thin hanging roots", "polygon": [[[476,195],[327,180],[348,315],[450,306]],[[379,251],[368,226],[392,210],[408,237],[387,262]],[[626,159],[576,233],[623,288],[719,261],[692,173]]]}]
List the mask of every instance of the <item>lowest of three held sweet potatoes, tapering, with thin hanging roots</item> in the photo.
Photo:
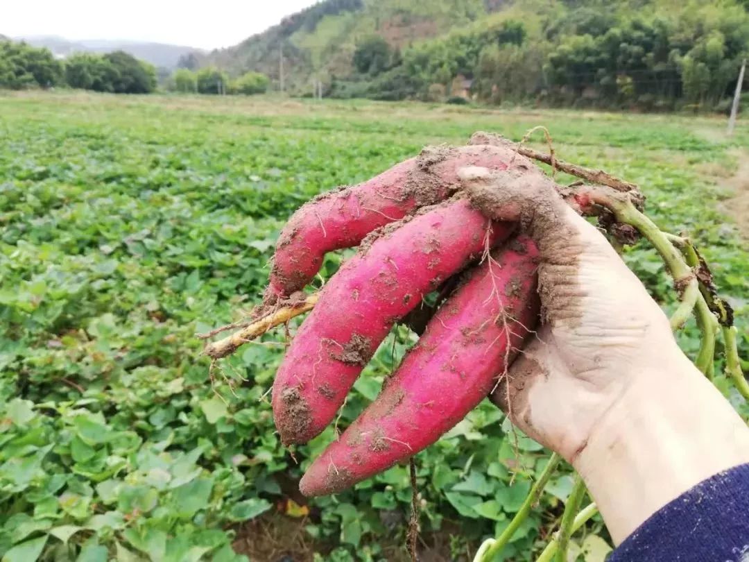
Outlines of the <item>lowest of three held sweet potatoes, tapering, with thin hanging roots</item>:
[{"label": "lowest of three held sweet potatoes, tapering, with thin hanging roots", "polygon": [[452,294],[375,402],[309,467],[300,490],[339,492],[437,441],[497,383],[535,327],[536,247],[495,250]]}]

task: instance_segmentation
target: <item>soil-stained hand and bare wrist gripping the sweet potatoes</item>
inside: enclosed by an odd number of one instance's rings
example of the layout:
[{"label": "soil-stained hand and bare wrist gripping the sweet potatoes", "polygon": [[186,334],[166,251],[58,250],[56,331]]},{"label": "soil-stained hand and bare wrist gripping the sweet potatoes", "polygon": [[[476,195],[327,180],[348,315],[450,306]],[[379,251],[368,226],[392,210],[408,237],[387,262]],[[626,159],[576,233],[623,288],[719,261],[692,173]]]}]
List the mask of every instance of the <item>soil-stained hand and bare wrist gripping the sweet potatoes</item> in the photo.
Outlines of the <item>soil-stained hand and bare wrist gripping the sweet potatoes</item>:
[{"label": "soil-stained hand and bare wrist gripping the sweet potatoes", "polygon": [[749,430],[677,347],[664,312],[554,184],[459,172],[539,248],[544,321],[491,399],[583,476],[616,542],[701,480],[749,462]]}]

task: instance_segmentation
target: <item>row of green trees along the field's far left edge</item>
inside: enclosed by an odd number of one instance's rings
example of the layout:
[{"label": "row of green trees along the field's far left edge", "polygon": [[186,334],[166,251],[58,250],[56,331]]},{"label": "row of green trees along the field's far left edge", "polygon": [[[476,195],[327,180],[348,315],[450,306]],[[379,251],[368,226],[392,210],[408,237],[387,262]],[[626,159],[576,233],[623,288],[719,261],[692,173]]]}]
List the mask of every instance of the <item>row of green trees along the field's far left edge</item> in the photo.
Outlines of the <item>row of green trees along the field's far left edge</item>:
[{"label": "row of green trees along the field's far left edge", "polygon": [[[170,91],[198,94],[260,94],[269,80],[248,72],[235,79],[214,67],[181,68],[166,78]],[[150,94],[159,86],[157,69],[123,51],[80,52],[58,60],[49,49],[0,40],[0,88],[68,87],[112,94]]]}]

